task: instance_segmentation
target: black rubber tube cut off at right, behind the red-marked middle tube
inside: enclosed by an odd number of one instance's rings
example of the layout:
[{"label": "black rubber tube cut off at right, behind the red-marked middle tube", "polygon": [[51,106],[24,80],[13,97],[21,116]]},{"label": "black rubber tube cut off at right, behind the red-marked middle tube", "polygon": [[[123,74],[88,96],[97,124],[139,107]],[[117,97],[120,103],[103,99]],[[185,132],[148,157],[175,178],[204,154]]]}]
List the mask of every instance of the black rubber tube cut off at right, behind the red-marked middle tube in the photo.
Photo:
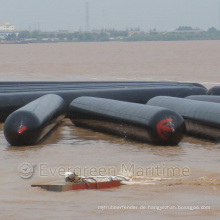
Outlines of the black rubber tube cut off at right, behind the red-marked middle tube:
[{"label": "black rubber tube cut off at right, behind the red-marked middle tube", "polygon": [[220,104],[175,97],[158,96],[147,105],[172,109],[183,116],[188,134],[220,140]]}]

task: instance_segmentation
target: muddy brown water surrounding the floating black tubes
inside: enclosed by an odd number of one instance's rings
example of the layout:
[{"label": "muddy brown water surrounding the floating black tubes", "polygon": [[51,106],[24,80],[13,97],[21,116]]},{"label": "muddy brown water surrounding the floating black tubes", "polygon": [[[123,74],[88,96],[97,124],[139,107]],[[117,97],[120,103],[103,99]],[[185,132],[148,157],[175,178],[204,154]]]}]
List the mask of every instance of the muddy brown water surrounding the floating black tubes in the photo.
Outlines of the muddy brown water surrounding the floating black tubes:
[{"label": "muddy brown water surrounding the floating black tubes", "polygon": [[[219,85],[219,41],[0,45],[0,80],[167,80]],[[39,145],[11,147],[0,125],[1,219],[218,219],[220,145],[185,137],[152,146],[69,120]],[[23,163],[34,167],[21,178]],[[31,184],[81,174],[126,174],[115,189],[47,192]]]}]

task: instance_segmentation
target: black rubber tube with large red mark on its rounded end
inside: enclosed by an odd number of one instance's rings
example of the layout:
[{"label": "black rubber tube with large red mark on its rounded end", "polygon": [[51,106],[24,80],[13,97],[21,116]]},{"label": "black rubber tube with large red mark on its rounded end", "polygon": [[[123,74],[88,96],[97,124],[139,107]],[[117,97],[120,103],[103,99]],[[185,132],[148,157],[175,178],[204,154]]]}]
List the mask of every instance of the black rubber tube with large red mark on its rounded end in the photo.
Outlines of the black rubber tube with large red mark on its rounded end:
[{"label": "black rubber tube with large red mark on its rounded end", "polygon": [[185,134],[183,118],[171,110],[110,99],[77,98],[67,117],[77,126],[156,145],[177,145]]}]

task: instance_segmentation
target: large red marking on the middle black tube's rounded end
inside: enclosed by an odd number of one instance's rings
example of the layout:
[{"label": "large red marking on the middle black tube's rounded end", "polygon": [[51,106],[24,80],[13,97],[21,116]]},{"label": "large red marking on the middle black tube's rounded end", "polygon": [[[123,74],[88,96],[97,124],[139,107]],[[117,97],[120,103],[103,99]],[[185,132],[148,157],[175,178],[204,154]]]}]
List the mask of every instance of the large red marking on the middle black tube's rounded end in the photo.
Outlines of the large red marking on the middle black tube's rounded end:
[{"label": "large red marking on the middle black tube's rounded end", "polygon": [[175,131],[172,121],[172,118],[167,118],[157,124],[157,133],[164,140],[167,140],[170,134]]}]

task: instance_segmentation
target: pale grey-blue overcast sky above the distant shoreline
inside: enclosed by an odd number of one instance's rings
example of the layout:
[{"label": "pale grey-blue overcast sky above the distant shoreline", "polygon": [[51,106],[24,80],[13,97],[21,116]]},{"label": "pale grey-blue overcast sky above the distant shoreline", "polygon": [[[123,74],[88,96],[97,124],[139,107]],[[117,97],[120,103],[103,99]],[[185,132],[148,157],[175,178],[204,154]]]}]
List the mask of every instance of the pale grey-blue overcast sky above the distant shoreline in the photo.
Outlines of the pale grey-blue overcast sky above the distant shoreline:
[{"label": "pale grey-blue overcast sky above the distant shoreline", "polygon": [[0,21],[16,29],[85,30],[86,2],[90,30],[220,26],[220,0],[0,0]]}]

